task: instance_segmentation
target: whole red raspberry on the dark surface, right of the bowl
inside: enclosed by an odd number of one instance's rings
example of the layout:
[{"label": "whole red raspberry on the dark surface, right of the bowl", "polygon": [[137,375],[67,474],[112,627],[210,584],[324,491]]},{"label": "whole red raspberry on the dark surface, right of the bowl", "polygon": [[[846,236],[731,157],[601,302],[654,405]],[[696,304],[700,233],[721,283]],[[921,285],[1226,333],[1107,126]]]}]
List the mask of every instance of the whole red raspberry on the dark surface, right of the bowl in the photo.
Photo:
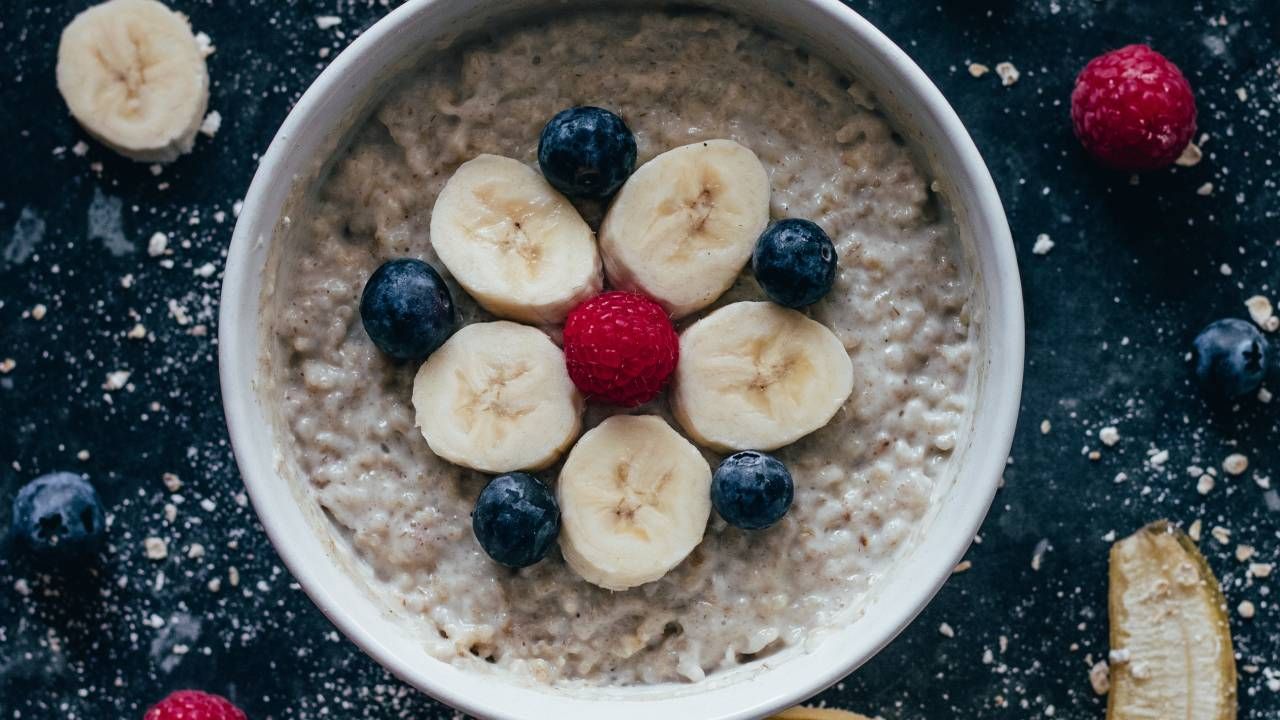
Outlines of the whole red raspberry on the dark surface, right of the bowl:
[{"label": "whole red raspberry on the dark surface, right of the bowl", "polygon": [[1196,133],[1196,96],[1178,65],[1146,45],[1089,60],[1071,92],[1084,149],[1117,170],[1171,164]]}]

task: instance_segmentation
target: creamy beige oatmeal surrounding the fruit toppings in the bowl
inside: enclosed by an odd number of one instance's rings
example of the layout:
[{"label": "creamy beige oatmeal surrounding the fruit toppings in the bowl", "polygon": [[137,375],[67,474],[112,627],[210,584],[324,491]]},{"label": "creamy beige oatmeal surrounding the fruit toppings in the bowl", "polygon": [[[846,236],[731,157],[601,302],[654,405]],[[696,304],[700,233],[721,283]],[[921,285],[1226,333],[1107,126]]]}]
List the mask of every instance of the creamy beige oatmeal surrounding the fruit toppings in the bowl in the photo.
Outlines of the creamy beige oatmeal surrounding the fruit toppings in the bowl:
[{"label": "creamy beige oatmeal surrounding the fruit toppings in the bowl", "polygon": [[[417,364],[383,356],[358,311],[389,259],[444,273],[428,228],[462,163],[494,154],[536,167],[543,124],[584,104],[626,119],[640,163],[713,138],[753,150],[771,215],[813,220],[835,241],[835,287],[806,315],[854,369],[835,418],[776,454],[795,479],[778,524],[746,532],[713,514],[684,562],[625,592],[582,580],[557,550],[522,570],[485,556],[470,515],[486,475],[433,455],[415,427]],[[965,427],[974,281],[929,184],[860,86],[721,15],[573,15],[431,58],[381,101],[276,243],[266,392],[287,470],[355,571],[442,659],[541,683],[645,684],[800,647],[855,618],[911,551]],[[603,205],[579,209],[598,229]],[[462,324],[493,319],[445,279]],[[744,272],[677,329],[763,299]],[[666,396],[640,411],[680,428]],[[614,413],[589,406],[584,428]],[[539,477],[554,484],[557,470]]]}]

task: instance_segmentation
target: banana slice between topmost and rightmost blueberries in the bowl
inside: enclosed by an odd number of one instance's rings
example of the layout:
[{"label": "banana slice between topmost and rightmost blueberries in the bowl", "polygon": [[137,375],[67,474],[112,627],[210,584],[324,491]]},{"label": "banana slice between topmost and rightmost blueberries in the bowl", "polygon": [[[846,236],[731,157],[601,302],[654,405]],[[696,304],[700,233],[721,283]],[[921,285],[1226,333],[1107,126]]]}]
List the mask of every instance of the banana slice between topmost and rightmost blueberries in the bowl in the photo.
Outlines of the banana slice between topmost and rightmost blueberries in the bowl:
[{"label": "banana slice between topmost and rightmost blueberries in the bowl", "polygon": [[746,265],[769,222],[769,176],[732,140],[668,150],[640,167],[600,225],[609,282],[675,318],[705,307]]}]

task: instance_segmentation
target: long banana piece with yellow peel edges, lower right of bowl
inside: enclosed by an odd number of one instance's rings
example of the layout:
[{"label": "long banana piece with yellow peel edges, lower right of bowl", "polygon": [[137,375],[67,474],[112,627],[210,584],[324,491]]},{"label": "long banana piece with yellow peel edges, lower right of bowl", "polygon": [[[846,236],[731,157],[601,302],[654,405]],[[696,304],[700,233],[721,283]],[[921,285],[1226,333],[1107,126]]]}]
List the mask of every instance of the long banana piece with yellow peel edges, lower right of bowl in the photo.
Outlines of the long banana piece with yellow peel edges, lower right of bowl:
[{"label": "long banana piece with yellow peel edges, lower right of bowl", "polygon": [[1162,520],[1115,543],[1108,606],[1107,720],[1234,720],[1226,601],[1185,533]]}]

